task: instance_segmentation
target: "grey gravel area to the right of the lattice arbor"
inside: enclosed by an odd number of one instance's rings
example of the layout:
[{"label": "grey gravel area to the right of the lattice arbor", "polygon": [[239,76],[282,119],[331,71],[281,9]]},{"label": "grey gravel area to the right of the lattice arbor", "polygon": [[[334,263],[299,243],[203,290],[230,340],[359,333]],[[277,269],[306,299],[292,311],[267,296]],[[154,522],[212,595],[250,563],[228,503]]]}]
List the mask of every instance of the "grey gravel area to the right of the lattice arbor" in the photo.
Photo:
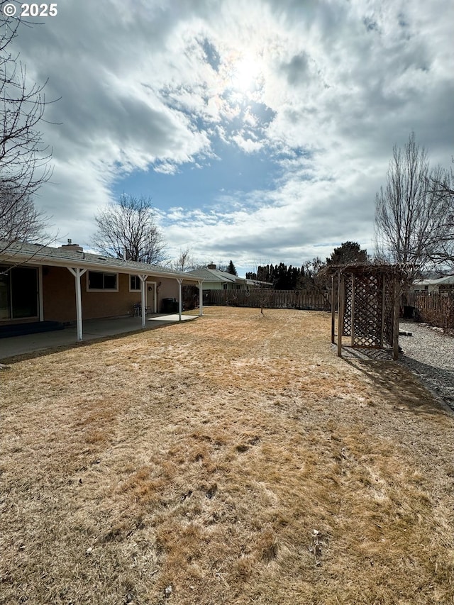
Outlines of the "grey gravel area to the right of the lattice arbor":
[{"label": "grey gravel area to the right of the lattice arbor", "polygon": [[454,337],[426,323],[401,321],[399,328],[412,334],[399,336],[399,362],[454,411]]}]

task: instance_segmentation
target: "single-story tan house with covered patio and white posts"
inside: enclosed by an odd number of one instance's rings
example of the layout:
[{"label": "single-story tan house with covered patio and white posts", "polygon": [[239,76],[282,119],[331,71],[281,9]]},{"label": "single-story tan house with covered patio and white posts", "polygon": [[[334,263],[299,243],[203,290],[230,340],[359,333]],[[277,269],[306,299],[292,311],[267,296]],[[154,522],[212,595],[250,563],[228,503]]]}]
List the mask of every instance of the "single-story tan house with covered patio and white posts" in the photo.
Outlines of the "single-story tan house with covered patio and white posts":
[{"label": "single-story tan house with covered patio and white posts", "polygon": [[[82,340],[82,319],[128,316],[139,311],[145,327],[147,309],[151,313],[165,311],[166,299],[175,299],[181,320],[182,284],[198,284],[201,294],[200,277],[84,252],[71,240],[60,248],[0,242],[0,250],[0,326],[75,322],[77,340]],[[201,314],[202,296],[199,301]]]}]

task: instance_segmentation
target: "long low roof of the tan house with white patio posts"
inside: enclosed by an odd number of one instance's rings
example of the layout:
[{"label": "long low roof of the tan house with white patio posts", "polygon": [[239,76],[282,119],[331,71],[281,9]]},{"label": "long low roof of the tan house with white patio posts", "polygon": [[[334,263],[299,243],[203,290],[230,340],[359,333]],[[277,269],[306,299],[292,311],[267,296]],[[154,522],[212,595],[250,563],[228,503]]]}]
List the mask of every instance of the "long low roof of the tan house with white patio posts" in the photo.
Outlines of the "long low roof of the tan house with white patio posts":
[{"label": "long low roof of the tan house with white patio posts", "polygon": [[81,267],[89,270],[111,270],[121,273],[142,274],[150,273],[153,275],[162,275],[162,277],[181,277],[188,281],[200,281],[200,277],[191,276],[187,273],[172,271],[158,265],[149,265],[146,262],[135,262],[133,260],[123,260],[121,258],[105,257],[83,250],[68,250],[65,247],[52,248],[50,246],[40,246],[18,242],[12,245],[2,245],[0,242],[1,262],[10,263],[31,263],[33,265],[52,265],[67,267]]}]

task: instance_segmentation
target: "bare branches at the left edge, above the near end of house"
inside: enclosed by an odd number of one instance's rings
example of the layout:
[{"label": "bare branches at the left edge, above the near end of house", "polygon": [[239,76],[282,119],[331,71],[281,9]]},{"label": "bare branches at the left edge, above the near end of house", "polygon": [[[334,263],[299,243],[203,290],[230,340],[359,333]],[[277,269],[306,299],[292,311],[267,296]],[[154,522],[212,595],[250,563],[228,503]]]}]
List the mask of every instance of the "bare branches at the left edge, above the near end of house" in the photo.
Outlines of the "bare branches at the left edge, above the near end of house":
[{"label": "bare branches at the left edge, above the near end of house", "polygon": [[33,204],[33,194],[50,179],[52,155],[40,123],[43,85],[28,85],[26,68],[9,50],[19,20],[0,17],[0,238],[6,249],[19,240],[43,235],[48,217]]}]

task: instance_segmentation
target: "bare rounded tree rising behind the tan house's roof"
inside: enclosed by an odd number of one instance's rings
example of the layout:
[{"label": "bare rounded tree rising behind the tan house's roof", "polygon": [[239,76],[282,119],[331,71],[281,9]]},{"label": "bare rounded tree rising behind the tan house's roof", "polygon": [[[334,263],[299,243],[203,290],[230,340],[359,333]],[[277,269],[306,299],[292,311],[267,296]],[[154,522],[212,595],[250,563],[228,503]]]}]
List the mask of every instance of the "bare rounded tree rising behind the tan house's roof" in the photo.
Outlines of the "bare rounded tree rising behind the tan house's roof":
[{"label": "bare rounded tree rising behind the tan house's roof", "polygon": [[96,214],[94,248],[107,256],[157,265],[165,260],[165,241],[157,228],[150,198],[121,194]]}]

